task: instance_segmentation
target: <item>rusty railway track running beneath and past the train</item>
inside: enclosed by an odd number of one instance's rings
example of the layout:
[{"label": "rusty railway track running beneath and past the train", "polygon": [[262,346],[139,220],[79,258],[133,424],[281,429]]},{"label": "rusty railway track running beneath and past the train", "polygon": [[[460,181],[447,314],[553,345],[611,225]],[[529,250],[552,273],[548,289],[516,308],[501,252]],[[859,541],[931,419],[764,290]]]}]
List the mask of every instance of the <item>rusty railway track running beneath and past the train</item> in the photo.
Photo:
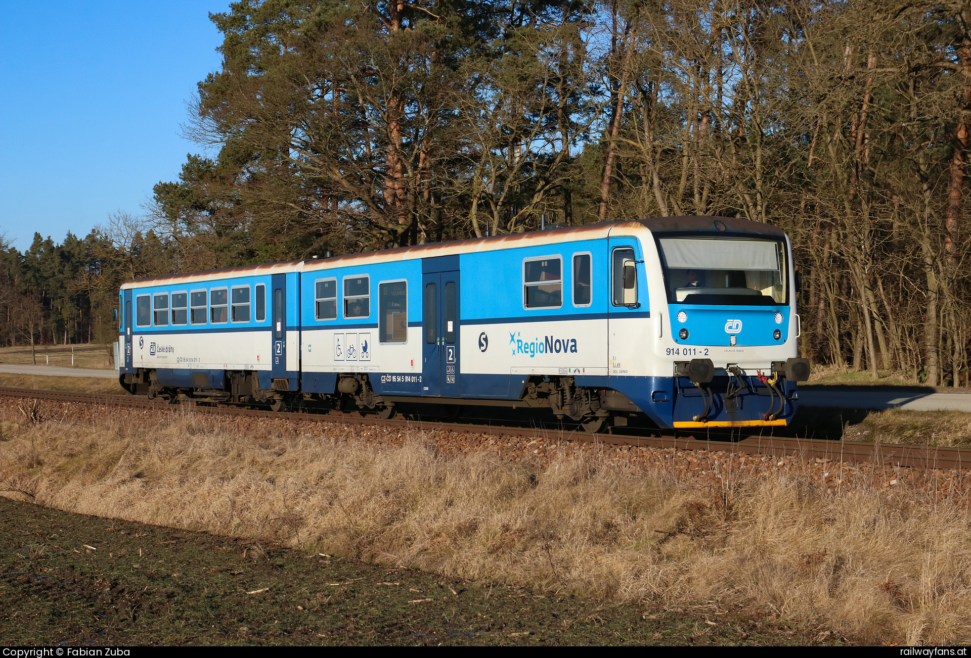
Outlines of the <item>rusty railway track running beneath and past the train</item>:
[{"label": "rusty railway track running beneath and past the train", "polygon": [[[129,409],[151,409],[156,411],[176,411],[181,405],[170,405],[163,401],[146,398],[104,395],[94,393],[66,393],[61,391],[35,390],[31,388],[0,387],[0,396],[51,400],[56,402],[75,402],[91,405]],[[870,462],[887,466],[930,469],[967,469],[971,468],[971,449],[959,447],[938,447],[908,444],[864,444],[847,441],[826,441],[819,439],[798,439],[789,437],[767,437],[753,435],[740,441],[726,442],[709,440],[706,437],[687,436],[682,433],[668,436],[631,436],[620,434],[589,434],[583,431],[569,431],[552,428],[536,428],[509,425],[477,425],[472,423],[439,422],[432,420],[411,420],[405,418],[383,419],[374,416],[361,416],[352,412],[290,412],[262,411],[237,407],[194,406],[198,413],[222,415],[247,415],[264,418],[285,418],[301,422],[342,422],[356,425],[385,425],[412,430],[435,430],[445,432],[476,432],[494,436],[529,437],[546,441],[580,441],[614,445],[637,445],[643,447],[677,448],[683,450],[713,450],[725,452],[744,452],[774,457],[794,455],[803,458],[843,462]]]}]

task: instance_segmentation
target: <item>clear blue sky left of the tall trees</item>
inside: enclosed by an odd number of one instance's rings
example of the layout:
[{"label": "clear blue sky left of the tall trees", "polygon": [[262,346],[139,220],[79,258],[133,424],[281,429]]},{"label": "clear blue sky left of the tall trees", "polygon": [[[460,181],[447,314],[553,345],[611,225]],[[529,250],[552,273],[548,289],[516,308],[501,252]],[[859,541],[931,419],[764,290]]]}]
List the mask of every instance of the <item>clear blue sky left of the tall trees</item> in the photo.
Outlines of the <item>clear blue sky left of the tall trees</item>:
[{"label": "clear blue sky left of the tall trees", "polygon": [[0,21],[0,231],[84,236],[142,213],[189,151],[196,82],[220,65],[209,12],[227,0],[4,3]]}]

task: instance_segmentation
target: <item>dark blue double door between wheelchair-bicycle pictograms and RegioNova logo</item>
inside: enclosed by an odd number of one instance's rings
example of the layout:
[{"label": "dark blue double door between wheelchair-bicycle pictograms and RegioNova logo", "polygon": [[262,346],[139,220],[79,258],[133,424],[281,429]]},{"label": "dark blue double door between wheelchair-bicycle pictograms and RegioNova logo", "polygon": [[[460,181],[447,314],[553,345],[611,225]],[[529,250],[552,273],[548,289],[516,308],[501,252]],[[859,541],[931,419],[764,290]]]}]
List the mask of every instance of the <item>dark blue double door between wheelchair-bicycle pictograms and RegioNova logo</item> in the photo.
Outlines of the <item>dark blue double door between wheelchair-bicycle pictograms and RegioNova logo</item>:
[{"label": "dark blue double door between wheelchair-bicycle pictograms and RegioNova logo", "polygon": [[421,276],[423,395],[457,398],[461,392],[458,270],[424,272]]}]

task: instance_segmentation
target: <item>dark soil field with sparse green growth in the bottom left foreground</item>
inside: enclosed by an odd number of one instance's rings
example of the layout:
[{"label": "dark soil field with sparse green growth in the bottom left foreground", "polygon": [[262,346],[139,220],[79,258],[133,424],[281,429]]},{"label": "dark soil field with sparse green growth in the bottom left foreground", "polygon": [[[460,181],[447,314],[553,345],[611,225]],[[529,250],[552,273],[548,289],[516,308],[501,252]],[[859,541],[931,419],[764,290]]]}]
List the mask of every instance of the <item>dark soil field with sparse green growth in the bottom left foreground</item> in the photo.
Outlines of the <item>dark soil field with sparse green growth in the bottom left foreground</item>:
[{"label": "dark soil field with sparse green growth in the bottom left foreground", "polygon": [[785,622],[707,608],[612,604],[0,498],[5,645],[804,641]]}]

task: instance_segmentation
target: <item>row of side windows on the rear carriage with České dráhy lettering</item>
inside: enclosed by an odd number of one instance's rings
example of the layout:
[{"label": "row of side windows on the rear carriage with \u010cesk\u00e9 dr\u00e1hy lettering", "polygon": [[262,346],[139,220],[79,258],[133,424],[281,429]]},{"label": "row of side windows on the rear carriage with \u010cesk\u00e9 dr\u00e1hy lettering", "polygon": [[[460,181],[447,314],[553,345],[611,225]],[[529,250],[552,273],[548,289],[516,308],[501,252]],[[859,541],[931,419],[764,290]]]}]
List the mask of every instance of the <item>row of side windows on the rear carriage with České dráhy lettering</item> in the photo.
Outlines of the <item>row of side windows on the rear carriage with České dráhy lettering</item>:
[{"label": "row of side windows on the rear carriage with \u010cesk\u00e9 dr\u00e1hy lettering", "polygon": [[[249,285],[234,285],[211,290],[157,292],[135,298],[135,325],[164,327],[185,324],[225,324],[249,322],[255,306],[257,322],[266,319],[266,286],[257,283],[251,294]],[[252,304],[254,302],[254,304]]]}]

